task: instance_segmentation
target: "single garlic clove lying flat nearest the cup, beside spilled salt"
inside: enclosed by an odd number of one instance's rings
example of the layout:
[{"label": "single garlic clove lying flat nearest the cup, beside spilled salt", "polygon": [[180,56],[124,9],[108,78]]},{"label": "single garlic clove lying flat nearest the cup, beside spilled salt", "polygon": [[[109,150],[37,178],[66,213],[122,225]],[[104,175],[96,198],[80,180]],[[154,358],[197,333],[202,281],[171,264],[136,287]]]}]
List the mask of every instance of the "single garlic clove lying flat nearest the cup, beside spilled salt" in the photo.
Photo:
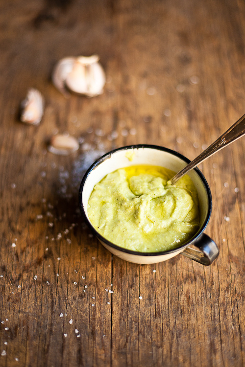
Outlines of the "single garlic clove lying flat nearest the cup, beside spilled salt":
[{"label": "single garlic clove lying flat nearest the cup, beside spilled salt", "polygon": [[61,156],[68,156],[79,148],[78,141],[70,135],[57,134],[50,139],[49,152]]}]

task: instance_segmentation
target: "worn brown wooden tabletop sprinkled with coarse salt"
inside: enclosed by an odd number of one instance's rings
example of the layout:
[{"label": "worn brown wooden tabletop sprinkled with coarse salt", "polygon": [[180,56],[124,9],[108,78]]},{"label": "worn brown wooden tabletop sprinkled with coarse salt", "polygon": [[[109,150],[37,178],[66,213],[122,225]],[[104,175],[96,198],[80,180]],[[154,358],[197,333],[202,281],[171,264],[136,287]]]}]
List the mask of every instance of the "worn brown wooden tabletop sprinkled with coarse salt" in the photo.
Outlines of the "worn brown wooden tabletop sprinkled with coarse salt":
[{"label": "worn brown wooden tabletop sprinkled with coarse salt", "polygon": [[[94,53],[104,93],[65,99],[54,64]],[[244,1],[2,1],[0,54],[0,366],[245,366],[244,138],[200,167],[210,267],[112,256],[77,200],[104,152],[147,143],[193,159],[245,113]],[[18,118],[31,87],[40,126]],[[77,154],[47,151],[57,132]]]}]

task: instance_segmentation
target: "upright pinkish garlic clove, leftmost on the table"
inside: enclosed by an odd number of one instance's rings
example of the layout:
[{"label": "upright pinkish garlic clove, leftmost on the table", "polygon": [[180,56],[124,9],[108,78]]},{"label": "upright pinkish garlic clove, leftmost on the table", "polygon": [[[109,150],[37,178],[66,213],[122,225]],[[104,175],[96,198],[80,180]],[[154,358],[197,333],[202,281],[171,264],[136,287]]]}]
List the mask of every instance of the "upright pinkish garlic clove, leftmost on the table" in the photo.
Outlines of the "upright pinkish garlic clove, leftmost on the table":
[{"label": "upright pinkish garlic clove, leftmost on the table", "polygon": [[44,97],[34,88],[28,90],[21,103],[21,121],[30,125],[39,125],[44,114]]}]

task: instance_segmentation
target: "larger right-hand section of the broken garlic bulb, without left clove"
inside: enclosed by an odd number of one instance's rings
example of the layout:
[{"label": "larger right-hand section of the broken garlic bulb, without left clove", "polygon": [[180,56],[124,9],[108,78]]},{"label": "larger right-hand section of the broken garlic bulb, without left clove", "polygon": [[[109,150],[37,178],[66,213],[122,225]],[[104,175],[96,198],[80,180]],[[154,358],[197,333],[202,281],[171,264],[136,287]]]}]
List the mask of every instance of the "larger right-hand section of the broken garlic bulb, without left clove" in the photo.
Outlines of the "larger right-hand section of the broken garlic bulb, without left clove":
[{"label": "larger right-hand section of the broken garlic bulb, without left clove", "polygon": [[66,86],[73,92],[93,97],[103,93],[105,72],[98,63],[98,56],[79,56],[68,73]]}]

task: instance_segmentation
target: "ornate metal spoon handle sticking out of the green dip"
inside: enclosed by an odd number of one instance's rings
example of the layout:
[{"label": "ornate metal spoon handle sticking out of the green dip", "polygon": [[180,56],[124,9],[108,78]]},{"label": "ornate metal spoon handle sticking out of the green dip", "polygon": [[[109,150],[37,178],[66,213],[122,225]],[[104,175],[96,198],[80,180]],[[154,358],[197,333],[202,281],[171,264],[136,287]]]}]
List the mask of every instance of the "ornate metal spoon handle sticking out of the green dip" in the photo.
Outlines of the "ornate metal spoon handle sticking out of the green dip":
[{"label": "ornate metal spoon handle sticking out of the green dip", "polygon": [[225,133],[223,133],[220,138],[215,140],[213,144],[209,145],[199,156],[197,156],[193,161],[187,164],[183,169],[176,173],[171,179],[171,184],[175,184],[182,176],[184,176],[191,169],[195,168],[197,164],[205,161],[207,158],[211,157],[213,154],[223,149],[225,146],[229,145],[233,141],[243,137],[245,135],[245,115],[239,118],[237,122],[234,123]]}]

